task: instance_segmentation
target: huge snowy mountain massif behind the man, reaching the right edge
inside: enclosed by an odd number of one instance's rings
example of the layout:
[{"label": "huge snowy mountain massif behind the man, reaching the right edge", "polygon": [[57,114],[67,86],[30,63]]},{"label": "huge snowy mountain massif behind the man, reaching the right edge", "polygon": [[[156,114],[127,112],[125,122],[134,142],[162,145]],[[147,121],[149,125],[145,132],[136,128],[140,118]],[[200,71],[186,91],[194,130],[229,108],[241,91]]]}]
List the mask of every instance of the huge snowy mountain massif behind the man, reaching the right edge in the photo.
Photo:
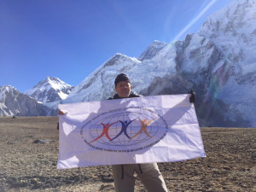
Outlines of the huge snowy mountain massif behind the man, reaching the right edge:
[{"label": "huge snowy mountain massif behind the man, reaching the right edge", "polygon": [[139,60],[114,55],[76,86],[64,102],[107,99],[113,96],[116,75],[126,73],[133,90],[144,96],[195,90],[201,125],[256,127],[253,0],[235,0],[211,15],[199,32],[154,50],[154,54],[146,50]]}]

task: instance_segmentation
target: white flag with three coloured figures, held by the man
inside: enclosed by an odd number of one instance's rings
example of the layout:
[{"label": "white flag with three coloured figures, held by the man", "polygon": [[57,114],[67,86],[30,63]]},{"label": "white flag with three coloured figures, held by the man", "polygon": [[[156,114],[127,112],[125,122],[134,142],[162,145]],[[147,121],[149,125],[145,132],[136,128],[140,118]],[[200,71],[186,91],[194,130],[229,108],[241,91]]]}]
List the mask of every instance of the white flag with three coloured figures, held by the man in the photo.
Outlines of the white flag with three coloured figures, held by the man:
[{"label": "white flag with three coloured figures, held by the man", "polygon": [[61,104],[57,168],[206,157],[190,95]]}]

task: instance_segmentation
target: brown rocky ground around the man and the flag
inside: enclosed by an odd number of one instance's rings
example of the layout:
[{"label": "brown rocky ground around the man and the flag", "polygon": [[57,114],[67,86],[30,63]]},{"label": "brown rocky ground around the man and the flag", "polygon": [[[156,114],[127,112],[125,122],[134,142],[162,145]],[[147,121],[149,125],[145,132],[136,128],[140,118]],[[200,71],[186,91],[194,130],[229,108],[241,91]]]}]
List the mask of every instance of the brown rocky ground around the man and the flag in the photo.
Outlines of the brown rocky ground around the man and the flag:
[{"label": "brown rocky ground around the man and the flag", "polygon": [[[57,170],[57,117],[0,118],[0,191],[114,191],[110,166]],[[207,158],[160,163],[170,191],[256,191],[256,129],[201,128]],[[146,191],[137,179],[136,191]]]}]

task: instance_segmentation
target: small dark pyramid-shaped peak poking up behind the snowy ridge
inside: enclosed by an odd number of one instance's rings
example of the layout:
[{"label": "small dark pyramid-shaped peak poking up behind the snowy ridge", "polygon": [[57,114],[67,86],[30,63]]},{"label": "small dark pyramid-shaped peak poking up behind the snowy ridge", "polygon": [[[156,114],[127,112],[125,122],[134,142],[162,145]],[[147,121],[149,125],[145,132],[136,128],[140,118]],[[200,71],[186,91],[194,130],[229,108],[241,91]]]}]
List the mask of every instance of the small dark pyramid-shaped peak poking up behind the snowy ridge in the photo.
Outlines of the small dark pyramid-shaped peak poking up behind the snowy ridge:
[{"label": "small dark pyramid-shaped peak poking up behind the snowy ridge", "polygon": [[152,59],[160,51],[160,49],[163,49],[166,47],[166,45],[167,44],[165,42],[154,40],[154,42],[148,46],[143,54],[138,57],[138,60],[143,61]]}]

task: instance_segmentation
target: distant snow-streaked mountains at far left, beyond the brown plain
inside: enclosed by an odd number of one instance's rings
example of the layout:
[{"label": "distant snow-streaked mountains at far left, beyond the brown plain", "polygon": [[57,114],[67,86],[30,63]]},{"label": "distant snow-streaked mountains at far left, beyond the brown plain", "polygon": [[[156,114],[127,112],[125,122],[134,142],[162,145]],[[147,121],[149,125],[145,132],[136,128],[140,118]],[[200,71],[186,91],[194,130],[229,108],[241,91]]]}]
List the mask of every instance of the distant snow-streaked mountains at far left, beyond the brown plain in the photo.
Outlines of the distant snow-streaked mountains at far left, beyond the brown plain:
[{"label": "distant snow-streaked mountains at far left, beyond the brown plain", "polygon": [[12,86],[0,86],[0,115],[46,116],[56,115],[57,106],[73,86],[60,79],[48,77],[32,90],[20,93]]}]

